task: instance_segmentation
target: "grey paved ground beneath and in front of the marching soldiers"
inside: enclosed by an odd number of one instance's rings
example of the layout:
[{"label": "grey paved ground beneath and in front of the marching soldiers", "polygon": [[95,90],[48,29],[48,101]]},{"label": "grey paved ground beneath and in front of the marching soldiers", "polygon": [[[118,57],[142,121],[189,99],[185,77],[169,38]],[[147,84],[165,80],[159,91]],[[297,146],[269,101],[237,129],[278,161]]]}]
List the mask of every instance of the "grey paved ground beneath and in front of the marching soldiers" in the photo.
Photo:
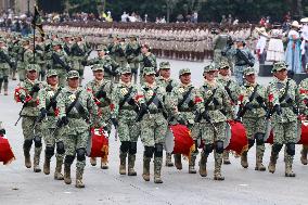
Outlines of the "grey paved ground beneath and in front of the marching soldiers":
[{"label": "grey paved ground beneath and in front of the marching soldiers", "polygon": [[[171,61],[172,76],[177,78],[178,71],[190,67],[193,72],[193,82],[202,84],[202,68],[204,63]],[[86,72],[86,80],[91,78],[90,69]],[[260,78],[261,84],[267,84],[269,78]],[[24,167],[22,152],[23,136],[21,123],[14,127],[21,105],[13,102],[13,88],[16,81],[10,84],[10,95],[0,95],[0,120],[5,121],[8,138],[10,139],[16,161],[11,165],[0,167],[0,204],[228,204],[228,205],[306,205],[308,204],[307,179],[308,166],[299,162],[297,146],[294,162],[296,178],[284,177],[282,154],[278,162],[275,174],[257,172],[254,170],[255,149],[248,155],[249,167],[243,169],[239,158],[231,156],[232,165],[223,166],[224,181],[214,181],[214,159],[209,156],[208,177],[188,174],[188,162],[183,162],[183,170],[163,168],[163,184],[154,184],[153,178],[144,182],[142,172],[141,142],[138,144],[136,169],[137,177],[118,175],[118,146],[119,142],[111,137],[110,169],[91,167],[89,161],[85,171],[86,189],[75,189],[54,181],[53,175],[34,174],[33,169]],[[265,164],[268,165],[270,150],[265,154]],[[151,165],[153,172],[153,164]],[[54,164],[52,163],[52,169]],[[75,172],[73,171],[75,178]],[[151,176],[153,177],[153,176]],[[74,181],[75,182],[75,181]]]}]

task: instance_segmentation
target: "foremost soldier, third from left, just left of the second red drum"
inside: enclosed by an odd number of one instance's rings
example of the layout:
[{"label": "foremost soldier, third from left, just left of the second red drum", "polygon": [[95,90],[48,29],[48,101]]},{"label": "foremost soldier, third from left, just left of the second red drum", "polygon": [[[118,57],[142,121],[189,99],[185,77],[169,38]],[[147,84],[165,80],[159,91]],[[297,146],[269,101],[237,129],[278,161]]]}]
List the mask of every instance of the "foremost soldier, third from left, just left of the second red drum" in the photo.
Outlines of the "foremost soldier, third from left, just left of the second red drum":
[{"label": "foremost soldier, third from left, just left of the second red drum", "polygon": [[[86,149],[89,139],[89,127],[101,127],[98,116],[98,106],[92,94],[79,88],[79,73],[67,73],[67,86],[59,95],[59,120],[56,127],[65,126],[63,137],[65,140],[64,182],[72,183],[70,166],[77,155],[76,188],[85,188],[82,175],[86,166]],[[91,115],[90,115],[91,114]]]}]

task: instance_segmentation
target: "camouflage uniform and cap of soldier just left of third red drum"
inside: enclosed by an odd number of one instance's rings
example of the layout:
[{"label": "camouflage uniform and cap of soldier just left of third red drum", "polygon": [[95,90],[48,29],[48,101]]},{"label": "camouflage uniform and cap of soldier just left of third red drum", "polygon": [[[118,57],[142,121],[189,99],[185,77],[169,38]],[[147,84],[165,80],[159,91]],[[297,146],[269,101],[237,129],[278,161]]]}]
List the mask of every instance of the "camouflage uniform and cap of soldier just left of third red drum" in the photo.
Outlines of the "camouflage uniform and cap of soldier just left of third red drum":
[{"label": "camouflage uniform and cap of soldier just left of third red drum", "polygon": [[[145,75],[155,75],[154,67],[144,67]],[[143,154],[143,179],[150,180],[150,163],[154,153],[154,182],[163,183],[161,170],[163,164],[163,144],[168,129],[167,120],[163,115],[164,97],[166,91],[156,84],[146,84],[141,87],[142,95],[146,105],[146,114],[141,119],[141,141],[144,145]],[[152,102],[151,102],[152,101]],[[141,105],[142,106],[142,105]]]}]

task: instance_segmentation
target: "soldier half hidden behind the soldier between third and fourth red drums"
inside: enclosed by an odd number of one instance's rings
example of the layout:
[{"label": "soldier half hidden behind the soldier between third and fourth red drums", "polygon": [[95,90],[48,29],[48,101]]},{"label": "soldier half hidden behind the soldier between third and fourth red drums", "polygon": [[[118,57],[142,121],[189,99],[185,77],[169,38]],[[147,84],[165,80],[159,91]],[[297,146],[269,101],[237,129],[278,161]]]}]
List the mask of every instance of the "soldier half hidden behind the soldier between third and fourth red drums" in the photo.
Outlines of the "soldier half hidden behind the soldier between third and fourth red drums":
[{"label": "soldier half hidden behind the soldier between third and fourth red drums", "polygon": [[[236,110],[236,104],[238,104],[238,98],[241,91],[240,86],[230,78],[230,64],[226,61],[222,61],[218,64],[219,66],[219,73],[217,77],[217,81],[223,86],[224,90],[227,91],[227,94],[229,97],[229,101],[232,105],[232,115],[228,116],[227,118],[233,119],[235,117],[235,110]],[[224,114],[228,114],[223,111]],[[229,152],[223,151],[223,164],[231,164],[229,159]]]}]

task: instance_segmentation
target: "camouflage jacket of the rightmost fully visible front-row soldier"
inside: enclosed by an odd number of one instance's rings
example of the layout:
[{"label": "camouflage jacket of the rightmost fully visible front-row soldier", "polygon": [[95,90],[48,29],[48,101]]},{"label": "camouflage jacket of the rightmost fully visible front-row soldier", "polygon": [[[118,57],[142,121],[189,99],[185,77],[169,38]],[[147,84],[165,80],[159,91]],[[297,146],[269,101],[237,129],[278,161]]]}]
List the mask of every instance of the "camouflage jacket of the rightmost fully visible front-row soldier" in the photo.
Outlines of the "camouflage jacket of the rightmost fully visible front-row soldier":
[{"label": "camouflage jacket of the rightmost fully visible front-row soldier", "polygon": [[[286,90],[287,82],[288,89]],[[284,94],[285,91],[286,94]],[[287,123],[297,120],[297,114],[294,112],[294,110],[297,110],[297,86],[293,79],[286,78],[282,81],[274,77],[269,82],[269,86],[267,88],[267,95],[269,97],[269,99],[272,99],[272,102],[269,102],[269,106],[272,107],[275,104],[280,104],[282,107],[281,116],[277,115],[277,113],[273,114],[274,123]],[[285,98],[280,99],[283,95],[285,95]]]}]

